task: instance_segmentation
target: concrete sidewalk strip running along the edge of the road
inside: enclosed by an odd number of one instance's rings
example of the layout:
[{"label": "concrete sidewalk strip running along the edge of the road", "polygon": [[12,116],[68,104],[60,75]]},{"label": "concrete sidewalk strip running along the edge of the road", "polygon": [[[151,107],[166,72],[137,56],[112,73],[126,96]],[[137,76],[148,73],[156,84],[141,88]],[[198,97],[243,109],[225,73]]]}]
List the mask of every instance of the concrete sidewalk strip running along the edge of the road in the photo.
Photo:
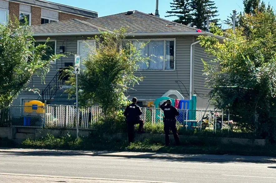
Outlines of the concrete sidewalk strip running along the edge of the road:
[{"label": "concrete sidewalk strip running along the edge of the road", "polygon": [[45,155],[86,155],[105,157],[126,158],[156,158],[156,159],[179,159],[182,161],[210,161],[210,162],[254,162],[254,163],[276,163],[275,157],[260,156],[235,156],[235,155],[201,155],[201,154],[169,154],[155,152],[110,152],[110,151],[71,151],[71,150],[47,150],[47,149],[16,149],[0,148],[3,153],[23,154],[45,154]]}]

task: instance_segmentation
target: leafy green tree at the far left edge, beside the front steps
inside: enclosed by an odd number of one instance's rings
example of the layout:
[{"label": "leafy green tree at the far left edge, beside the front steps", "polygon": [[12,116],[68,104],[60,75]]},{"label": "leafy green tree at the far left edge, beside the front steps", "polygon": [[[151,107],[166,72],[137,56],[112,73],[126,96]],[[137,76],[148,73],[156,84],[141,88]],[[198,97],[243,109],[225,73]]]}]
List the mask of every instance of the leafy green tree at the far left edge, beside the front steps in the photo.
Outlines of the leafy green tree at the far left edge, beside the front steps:
[{"label": "leafy green tree at the far left edge, beside the front steps", "polygon": [[[27,22],[27,21],[26,21]],[[60,55],[51,55],[43,60],[47,46],[33,46],[34,39],[28,30],[27,23],[19,26],[18,20],[7,25],[0,25],[0,108],[7,108],[24,90],[37,92],[28,88],[33,75],[41,77],[50,69],[50,60]]]}]

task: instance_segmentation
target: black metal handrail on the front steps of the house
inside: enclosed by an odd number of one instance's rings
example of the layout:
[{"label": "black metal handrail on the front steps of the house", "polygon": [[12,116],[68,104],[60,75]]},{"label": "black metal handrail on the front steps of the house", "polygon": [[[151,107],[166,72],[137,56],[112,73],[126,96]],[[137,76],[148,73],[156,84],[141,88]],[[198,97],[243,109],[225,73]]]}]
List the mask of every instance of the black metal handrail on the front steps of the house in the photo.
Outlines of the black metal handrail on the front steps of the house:
[{"label": "black metal handrail on the front steps of the house", "polygon": [[47,104],[49,101],[56,95],[59,86],[64,83],[62,79],[62,73],[60,71],[53,77],[50,83],[46,86],[42,93],[37,99],[42,100],[43,102],[46,100]]}]

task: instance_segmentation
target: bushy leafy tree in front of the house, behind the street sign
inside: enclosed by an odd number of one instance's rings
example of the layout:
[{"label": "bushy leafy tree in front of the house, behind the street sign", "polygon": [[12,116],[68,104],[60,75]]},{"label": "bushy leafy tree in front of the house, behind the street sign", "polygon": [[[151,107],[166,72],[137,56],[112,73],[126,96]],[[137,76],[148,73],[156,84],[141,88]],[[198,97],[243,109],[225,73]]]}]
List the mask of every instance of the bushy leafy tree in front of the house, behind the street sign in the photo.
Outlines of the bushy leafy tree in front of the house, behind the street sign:
[{"label": "bushy leafy tree in front of the house, behind the street sign", "polygon": [[[143,79],[134,75],[139,69],[137,63],[149,60],[130,42],[123,41],[125,32],[122,28],[114,33],[102,32],[101,36],[95,36],[97,46],[88,46],[88,55],[83,58],[85,69],[78,77],[80,105],[98,104],[106,116],[114,115],[114,112],[126,106],[128,101],[125,93]],[[119,48],[121,42],[123,49]],[[141,48],[144,46],[142,44]],[[76,92],[74,74],[71,74],[67,83],[74,86],[67,90],[69,97],[72,97]]]}]

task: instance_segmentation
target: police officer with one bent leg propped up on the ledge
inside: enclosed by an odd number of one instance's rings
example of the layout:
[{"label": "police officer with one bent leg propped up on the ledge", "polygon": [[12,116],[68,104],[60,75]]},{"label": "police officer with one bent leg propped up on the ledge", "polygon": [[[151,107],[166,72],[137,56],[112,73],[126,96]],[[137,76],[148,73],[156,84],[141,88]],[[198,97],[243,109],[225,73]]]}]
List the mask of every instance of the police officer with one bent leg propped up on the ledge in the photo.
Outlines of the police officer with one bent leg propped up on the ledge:
[{"label": "police officer with one bent leg propped up on the ledge", "polygon": [[132,99],[132,104],[128,105],[124,112],[124,115],[126,117],[126,123],[127,123],[128,142],[133,142],[135,124],[139,124],[139,129],[138,129],[139,133],[142,133],[143,131],[144,121],[140,117],[140,115],[142,114],[142,111],[136,103],[137,103],[137,98],[134,97]]}]

